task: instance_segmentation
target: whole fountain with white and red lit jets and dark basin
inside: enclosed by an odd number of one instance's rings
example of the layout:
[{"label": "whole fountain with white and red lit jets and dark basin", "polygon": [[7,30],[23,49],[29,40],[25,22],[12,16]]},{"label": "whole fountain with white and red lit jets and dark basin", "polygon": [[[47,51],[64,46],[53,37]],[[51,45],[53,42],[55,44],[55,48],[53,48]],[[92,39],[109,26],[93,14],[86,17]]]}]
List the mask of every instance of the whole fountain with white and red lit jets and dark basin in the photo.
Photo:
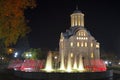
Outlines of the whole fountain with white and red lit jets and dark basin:
[{"label": "whole fountain with white and red lit jets and dark basin", "polygon": [[[54,69],[54,60],[52,59],[52,53],[49,51],[45,67],[43,67],[43,61],[36,63],[36,60],[24,60],[21,71],[18,70],[14,73],[16,76],[25,79],[40,80],[95,80],[112,77],[112,71],[106,71],[106,66],[102,60],[91,60],[89,61],[90,65],[87,65],[87,60],[83,60],[81,55],[78,57],[79,59],[77,60],[76,57],[71,58],[68,55],[67,65],[64,61],[64,64],[62,63],[66,67],[59,65],[59,68]],[[63,67],[61,68],[61,66]]]}]

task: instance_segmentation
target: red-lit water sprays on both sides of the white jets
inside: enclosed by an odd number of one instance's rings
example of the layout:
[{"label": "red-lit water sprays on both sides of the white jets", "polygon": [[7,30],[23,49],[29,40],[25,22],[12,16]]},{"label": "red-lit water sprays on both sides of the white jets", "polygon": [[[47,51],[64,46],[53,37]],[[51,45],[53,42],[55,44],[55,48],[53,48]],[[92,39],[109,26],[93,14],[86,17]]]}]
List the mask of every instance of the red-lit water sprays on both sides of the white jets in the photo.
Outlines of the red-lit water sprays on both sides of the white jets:
[{"label": "red-lit water sprays on both sides of the white jets", "polygon": [[[101,72],[106,71],[106,65],[103,60],[84,60],[84,69],[86,72]],[[45,68],[44,60],[12,60],[8,68],[13,68],[14,70],[21,70],[26,72],[39,72],[40,69]]]}]

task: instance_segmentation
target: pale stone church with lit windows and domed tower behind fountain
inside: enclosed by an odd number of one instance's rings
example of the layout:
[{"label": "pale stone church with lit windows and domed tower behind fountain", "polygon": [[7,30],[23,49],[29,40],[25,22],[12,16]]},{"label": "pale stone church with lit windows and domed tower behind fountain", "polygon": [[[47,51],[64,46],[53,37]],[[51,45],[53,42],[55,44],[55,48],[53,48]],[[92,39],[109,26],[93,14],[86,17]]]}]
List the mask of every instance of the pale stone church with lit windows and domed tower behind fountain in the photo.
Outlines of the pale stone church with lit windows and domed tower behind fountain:
[{"label": "pale stone church with lit windows and domed tower behind fountain", "polygon": [[70,17],[71,27],[61,33],[59,41],[61,63],[66,65],[69,57],[72,63],[80,56],[88,61],[100,59],[100,44],[84,27],[84,14],[76,9]]}]

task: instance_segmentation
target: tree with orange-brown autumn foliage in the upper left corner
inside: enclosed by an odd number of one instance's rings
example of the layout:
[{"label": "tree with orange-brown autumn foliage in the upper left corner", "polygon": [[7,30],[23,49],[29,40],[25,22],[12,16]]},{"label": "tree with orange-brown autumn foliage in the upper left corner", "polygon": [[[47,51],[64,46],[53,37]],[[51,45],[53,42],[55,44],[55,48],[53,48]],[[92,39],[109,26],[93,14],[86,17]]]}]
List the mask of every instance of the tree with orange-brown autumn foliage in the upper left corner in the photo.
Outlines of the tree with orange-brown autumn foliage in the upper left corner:
[{"label": "tree with orange-brown autumn foliage in the upper left corner", "polygon": [[24,11],[34,7],[35,0],[0,0],[0,40],[6,47],[30,32]]}]

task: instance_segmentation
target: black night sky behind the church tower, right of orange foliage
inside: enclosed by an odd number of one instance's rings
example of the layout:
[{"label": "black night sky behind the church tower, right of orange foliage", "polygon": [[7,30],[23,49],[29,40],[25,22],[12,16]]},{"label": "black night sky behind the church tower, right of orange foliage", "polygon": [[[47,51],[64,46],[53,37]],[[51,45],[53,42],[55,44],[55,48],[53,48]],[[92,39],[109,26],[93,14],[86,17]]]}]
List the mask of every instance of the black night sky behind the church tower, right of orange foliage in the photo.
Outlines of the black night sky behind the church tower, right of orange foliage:
[{"label": "black night sky behind the church tower, right of orange foliage", "polygon": [[56,49],[61,32],[70,27],[70,14],[76,8],[85,14],[85,28],[108,52],[120,53],[120,4],[116,0],[38,0],[26,12],[29,44],[32,48]]}]

